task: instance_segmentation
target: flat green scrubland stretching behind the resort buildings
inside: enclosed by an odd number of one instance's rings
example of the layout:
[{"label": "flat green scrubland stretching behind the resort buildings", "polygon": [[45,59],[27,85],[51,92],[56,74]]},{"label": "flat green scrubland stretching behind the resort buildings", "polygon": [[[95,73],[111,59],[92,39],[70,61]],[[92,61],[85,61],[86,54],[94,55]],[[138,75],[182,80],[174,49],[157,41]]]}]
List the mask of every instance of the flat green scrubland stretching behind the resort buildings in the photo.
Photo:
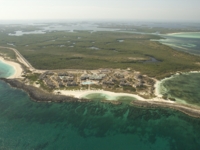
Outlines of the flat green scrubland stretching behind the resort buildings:
[{"label": "flat green scrubland stretching behind the resort buildings", "polygon": [[[159,38],[153,35],[88,31],[8,36],[6,31],[0,34],[0,45],[13,43],[14,48],[37,69],[131,68],[156,78],[176,71],[200,70],[200,57],[150,41]],[[124,42],[119,42],[120,39]],[[140,61],[150,59],[150,56],[160,62]]]}]

